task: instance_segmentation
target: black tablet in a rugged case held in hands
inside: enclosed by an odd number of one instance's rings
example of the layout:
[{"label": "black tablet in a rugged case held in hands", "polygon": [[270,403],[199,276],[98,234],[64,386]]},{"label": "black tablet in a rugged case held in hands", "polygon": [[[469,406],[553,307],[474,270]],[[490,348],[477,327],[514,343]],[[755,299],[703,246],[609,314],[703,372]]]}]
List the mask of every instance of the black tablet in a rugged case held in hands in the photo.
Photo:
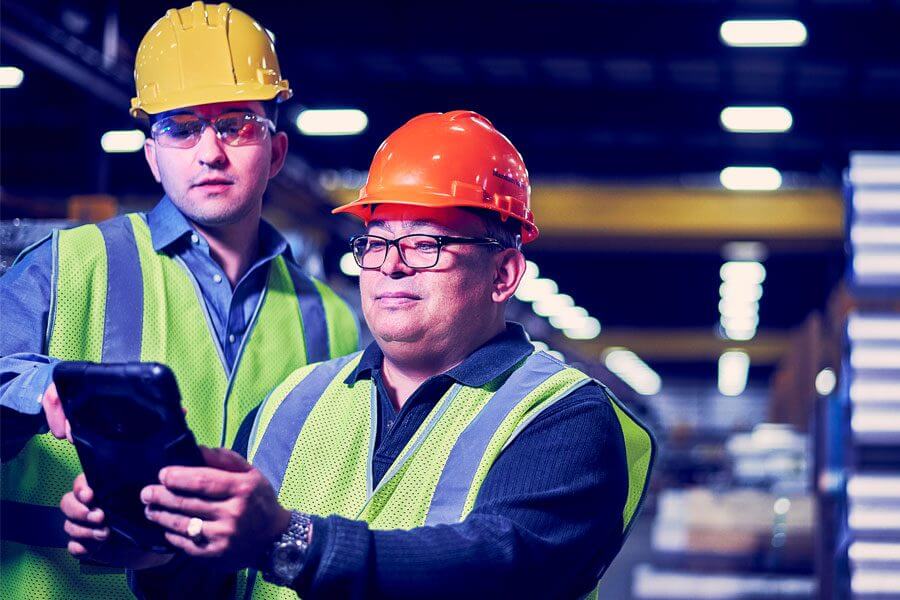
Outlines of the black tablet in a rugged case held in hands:
[{"label": "black tablet in a rugged case held in hands", "polygon": [[144,516],[140,491],[165,466],[204,464],[172,371],[157,363],[63,362],[53,382],[110,529],[140,548],[171,551],[162,527]]}]

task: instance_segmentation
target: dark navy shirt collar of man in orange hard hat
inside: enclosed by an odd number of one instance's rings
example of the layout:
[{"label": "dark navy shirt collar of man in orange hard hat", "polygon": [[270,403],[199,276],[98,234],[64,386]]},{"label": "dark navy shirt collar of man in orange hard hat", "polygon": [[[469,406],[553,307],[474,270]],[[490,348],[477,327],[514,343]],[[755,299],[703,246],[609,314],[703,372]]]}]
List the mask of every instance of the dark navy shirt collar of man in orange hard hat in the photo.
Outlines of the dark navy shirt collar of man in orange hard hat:
[{"label": "dark navy shirt collar of man in orange hard hat", "polygon": [[[481,387],[513,368],[532,352],[534,346],[531,345],[525,329],[518,323],[509,321],[504,331],[443,375],[466,387]],[[366,347],[356,369],[344,383],[352,385],[360,379],[371,379],[372,371],[381,369],[383,359],[381,348],[372,342]]]}]

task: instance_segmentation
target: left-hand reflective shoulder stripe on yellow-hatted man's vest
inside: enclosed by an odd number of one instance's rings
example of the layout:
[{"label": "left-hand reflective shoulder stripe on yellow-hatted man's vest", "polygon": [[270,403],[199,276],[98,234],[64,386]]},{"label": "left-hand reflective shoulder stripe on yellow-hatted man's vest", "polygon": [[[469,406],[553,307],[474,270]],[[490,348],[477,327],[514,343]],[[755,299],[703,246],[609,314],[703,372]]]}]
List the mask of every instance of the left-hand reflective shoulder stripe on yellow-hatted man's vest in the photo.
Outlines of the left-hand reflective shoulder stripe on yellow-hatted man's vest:
[{"label": "left-hand reflective shoulder stripe on yellow-hatted man's vest", "polygon": [[141,359],[144,280],[131,219],[117,217],[97,225],[106,244],[106,315],[102,362]]}]

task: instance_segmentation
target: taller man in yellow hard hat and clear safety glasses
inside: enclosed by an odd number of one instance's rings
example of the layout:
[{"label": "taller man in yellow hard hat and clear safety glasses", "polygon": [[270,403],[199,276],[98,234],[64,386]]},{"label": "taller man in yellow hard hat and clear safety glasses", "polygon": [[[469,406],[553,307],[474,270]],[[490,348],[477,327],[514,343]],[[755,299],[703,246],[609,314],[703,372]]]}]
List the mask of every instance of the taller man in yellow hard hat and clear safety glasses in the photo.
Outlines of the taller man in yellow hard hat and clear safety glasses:
[{"label": "taller man in yellow hard hat and clear safety glasses", "polygon": [[81,469],[51,385],[57,362],[165,363],[198,441],[227,447],[289,373],[358,345],[347,305],[260,218],[287,152],[275,107],[291,97],[266,30],[228,4],[169,10],[141,42],[135,83],[131,114],[149,120],[163,199],[54,232],[0,278],[0,404],[14,417],[2,598],[130,597],[124,572],[66,551],[59,502]]}]

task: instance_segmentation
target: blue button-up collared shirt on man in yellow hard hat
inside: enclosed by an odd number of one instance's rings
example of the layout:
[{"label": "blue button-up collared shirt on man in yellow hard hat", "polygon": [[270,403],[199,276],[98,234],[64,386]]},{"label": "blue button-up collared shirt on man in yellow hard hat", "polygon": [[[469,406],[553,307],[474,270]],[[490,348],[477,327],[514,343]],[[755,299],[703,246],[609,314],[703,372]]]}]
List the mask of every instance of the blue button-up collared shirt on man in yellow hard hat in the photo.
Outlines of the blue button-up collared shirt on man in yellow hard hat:
[{"label": "blue button-up collared shirt on man in yellow hard hat", "polygon": [[[292,260],[287,242],[274,227],[261,221],[256,262],[232,289],[222,267],[210,256],[209,244],[168,197],[146,217],[153,248],[180,257],[196,278],[225,361],[229,369],[233,368],[265,288],[269,263],[282,254]],[[58,362],[46,354],[52,271],[53,254],[47,240],[0,277],[0,406],[23,415],[41,412],[40,398]],[[17,418],[16,422],[21,420]],[[21,425],[15,431],[4,427],[4,446],[13,441],[6,434],[27,439],[42,426],[42,419],[33,419],[24,429]]]}]

